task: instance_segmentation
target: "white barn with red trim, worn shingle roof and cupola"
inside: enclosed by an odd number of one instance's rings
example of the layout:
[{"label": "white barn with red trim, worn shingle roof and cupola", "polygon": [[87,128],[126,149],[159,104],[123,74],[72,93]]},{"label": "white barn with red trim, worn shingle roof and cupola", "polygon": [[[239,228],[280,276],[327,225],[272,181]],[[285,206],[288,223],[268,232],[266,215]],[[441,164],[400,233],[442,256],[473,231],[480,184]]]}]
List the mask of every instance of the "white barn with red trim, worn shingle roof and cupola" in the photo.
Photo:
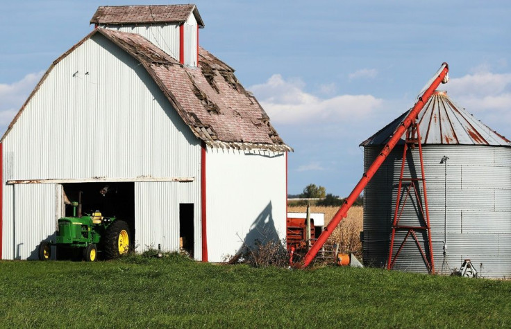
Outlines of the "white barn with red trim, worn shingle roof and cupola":
[{"label": "white barn with red trim, worn shingle roof and cupola", "polygon": [[196,6],[99,7],[91,23],[0,141],[0,258],[37,258],[79,191],[85,212],[130,223],[136,251],[217,262],[282,240],[291,148],[199,47]]}]

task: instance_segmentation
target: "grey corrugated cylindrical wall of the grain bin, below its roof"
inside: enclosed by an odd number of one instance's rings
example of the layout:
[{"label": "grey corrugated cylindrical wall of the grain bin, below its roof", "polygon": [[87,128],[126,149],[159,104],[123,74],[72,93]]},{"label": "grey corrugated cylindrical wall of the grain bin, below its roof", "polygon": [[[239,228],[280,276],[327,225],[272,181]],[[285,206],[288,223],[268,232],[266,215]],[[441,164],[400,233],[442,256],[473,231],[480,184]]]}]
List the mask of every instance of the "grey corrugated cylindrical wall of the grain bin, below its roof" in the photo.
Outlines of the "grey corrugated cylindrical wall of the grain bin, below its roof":
[{"label": "grey corrugated cylindrical wall of the grain bin, below its roof", "polygon": [[[379,152],[380,146],[365,147],[366,170]],[[414,163],[415,170],[419,171],[419,152],[416,149],[412,154],[413,162],[410,163]],[[511,276],[511,148],[424,145],[423,154],[435,270],[449,274],[449,269],[459,268],[464,258],[470,258],[477,265],[476,269],[481,268],[483,276]],[[444,155],[449,157],[447,177],[445,164],[440,163]],[[399,145],[365,188],[364,262],[367,265],[383,267],[387,261],[402,157],[403,146]],[[409,171],[406,168],[405,177],[410,177]],[[417,224],[417,212],[410,201],[400,224]],[[445,231],[447,254],[444,258]],[[404,234],[396,235],[394,254]],[[418,234],[418,238],[424,247],[426,235]],[[411,238],[397,258],[394,269],[426,272]]]}]

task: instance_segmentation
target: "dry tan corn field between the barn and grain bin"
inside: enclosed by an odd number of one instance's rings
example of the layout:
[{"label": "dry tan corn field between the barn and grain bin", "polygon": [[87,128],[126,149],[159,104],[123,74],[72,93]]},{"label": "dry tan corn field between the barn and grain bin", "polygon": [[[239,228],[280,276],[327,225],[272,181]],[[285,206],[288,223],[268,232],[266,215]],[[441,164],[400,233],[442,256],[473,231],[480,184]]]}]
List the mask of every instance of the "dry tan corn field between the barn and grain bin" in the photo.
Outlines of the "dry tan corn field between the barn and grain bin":
[{"label": "dry tan corn field between the barn and grain bin", "polygon": [[[337,213],[340,207],[336,206],[310,206],[311,213],[324,213],[325,226],[332,220],[333,215]],[[287,211],[294,213],[305,213],[307,206],[287,206]],[[360,243],[360,231],[362,231],[363,208],[353,206],[348,211],[348,216],[341,221],[335,228],[328,242],[340,244],[340,250],[344,252],[354,252],[357,256],[362,251]]]}]

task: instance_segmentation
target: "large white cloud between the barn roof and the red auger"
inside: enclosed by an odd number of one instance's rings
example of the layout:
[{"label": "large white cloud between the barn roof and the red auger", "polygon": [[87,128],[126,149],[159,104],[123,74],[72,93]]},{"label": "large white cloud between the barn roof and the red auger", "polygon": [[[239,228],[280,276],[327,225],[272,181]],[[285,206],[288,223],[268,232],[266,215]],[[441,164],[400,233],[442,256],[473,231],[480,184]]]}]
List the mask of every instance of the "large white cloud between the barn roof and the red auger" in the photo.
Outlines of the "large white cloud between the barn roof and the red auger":
[{"label": "large white cloud between the barn roof and the red auger", "polygon": [[340,95],[319,98],[303,90],[301,80],[272,75],[264,84],[250,89],[273,123],[319,123],[357,121],[367,118],[382,100],[371,95]]}]

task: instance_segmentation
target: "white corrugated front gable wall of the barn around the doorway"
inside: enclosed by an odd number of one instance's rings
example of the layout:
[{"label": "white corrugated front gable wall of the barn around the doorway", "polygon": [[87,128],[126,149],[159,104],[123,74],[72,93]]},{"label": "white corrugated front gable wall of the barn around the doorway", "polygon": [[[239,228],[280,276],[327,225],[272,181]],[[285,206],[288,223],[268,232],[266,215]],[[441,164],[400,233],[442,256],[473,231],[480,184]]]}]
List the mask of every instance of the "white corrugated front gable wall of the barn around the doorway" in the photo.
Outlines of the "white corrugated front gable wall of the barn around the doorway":
[{"label": "white corrugated front gable wall of the barn around the doorway", "polygon": [[[51,70],[3,141],[3,258],[17,257],[14,244],[28,250],[55,231],[55,186],[13,188],[6,180],[195,177],[194,183],[168,183],[188,190],[200,184],[200,154],[199,141],[142,65],[94,35]],[[194,197],[190,203],[199,204]],[[45,207],[53,213],[44,210],[37,217],[42,222],[33,226],[33,214]],[[145,210],[137,215],[145,218]],[[137,232],[155,229],[144,224],[137,223]],[[28,230],[33,236],[19,240]]]}]

